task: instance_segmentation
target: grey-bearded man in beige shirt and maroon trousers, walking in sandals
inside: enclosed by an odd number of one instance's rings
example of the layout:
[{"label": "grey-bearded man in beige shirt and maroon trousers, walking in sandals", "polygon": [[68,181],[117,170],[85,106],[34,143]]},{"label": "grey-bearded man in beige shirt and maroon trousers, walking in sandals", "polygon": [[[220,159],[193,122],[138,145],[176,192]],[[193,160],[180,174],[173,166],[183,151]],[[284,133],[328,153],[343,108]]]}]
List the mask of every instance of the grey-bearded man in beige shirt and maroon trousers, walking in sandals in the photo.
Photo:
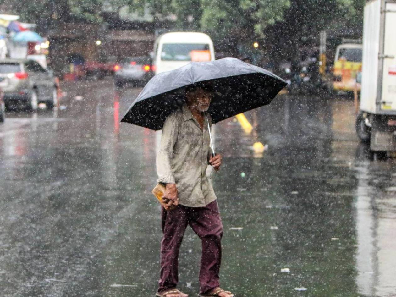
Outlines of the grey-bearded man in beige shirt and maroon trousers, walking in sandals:
[{"label": "grey-bearded man in beige shirt and maroon trousers, walking in sandals", "polygon": [[202,241],[199,295],[233,297],[219,285],[223,225],[206,176],[208,164],[215,171],[221,166],[221,155],[212,156],[209,150],[211,117],[206,111],[211,97],[209,85],[188,86],[186,103],[168,116],[162,129],[156,163],[158,182],[166,185],[164,199],[168,204],[162,208],[159,297],[188,296],[176,289],[179,249],[187,225]]}]

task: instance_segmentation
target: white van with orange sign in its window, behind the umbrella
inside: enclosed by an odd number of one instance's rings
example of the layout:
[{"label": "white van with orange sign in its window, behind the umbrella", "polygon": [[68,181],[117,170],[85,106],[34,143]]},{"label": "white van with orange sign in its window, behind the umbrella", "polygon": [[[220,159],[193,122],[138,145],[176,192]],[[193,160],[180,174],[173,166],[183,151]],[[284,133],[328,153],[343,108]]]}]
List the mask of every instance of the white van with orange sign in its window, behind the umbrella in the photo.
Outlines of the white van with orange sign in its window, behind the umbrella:
[{"label": "white van with orange sign in its window, behind the umbrella", "polygon": [[177,69],[191,61],[214,61],[213,42],[200,32],[169,32],[154,43],[155,74]]}]

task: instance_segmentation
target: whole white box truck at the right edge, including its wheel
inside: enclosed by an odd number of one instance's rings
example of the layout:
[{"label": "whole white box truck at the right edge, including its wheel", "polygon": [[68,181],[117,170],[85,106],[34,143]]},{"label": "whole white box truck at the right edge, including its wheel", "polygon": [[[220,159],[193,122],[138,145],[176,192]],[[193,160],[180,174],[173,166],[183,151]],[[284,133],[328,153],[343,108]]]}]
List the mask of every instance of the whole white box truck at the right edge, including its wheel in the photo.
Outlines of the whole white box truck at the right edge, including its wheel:
[{"label": "whole white box truck at the right edge, including its wheel", "polygon": [[364,8],[358,137],[370,151],[396,151],[396,0],[369,0]]}]

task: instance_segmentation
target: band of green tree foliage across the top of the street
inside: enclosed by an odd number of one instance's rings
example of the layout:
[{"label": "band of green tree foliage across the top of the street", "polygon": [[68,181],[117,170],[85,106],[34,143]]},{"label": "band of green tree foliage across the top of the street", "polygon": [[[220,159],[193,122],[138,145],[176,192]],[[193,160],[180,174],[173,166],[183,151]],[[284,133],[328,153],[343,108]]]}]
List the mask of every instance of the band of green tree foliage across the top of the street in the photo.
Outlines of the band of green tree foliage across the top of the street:
[{"label": "band of green tree foliage across the top of the street", "polygon": [[154,20],[176,17],[175,27],[208,32],[216,44],[238,44],[256,38],[295,51],[307,38],[329,28],[360,25],[365,0],[0,0],[23,21],[88,21],[100,23],[103,4],[114,11],[149,9]]}]

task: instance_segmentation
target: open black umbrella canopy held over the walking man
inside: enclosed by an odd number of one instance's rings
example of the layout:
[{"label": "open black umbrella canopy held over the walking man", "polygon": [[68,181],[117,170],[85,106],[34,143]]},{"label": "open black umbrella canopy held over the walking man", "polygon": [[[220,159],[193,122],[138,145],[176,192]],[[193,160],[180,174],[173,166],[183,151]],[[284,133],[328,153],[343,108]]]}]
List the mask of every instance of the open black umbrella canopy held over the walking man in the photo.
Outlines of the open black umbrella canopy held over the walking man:
[{"label": "open black umbrella canopy held over the walking man", "polygon": [[160,130],[166,117],[185,103],[185,87],[202,82],[213,86],[208,109],[212,123],[269,104],[287,85],[275,74],[236,58],[191,62],[154,76],[121,122]]}]

